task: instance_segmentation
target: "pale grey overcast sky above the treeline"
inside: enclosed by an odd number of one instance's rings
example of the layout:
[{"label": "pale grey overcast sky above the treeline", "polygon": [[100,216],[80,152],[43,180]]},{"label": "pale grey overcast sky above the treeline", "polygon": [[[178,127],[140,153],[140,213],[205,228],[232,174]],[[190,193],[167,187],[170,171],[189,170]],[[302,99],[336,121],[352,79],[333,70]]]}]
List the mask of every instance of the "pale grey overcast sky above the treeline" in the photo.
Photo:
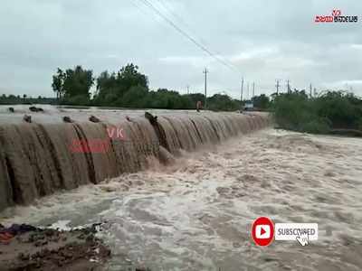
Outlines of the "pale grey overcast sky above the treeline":
[{"label": "pale grey overcast sky above the treeline", "polygon": [[[0,94],[54,96],[57,67],[98,75],[134,62],[151,89],[204,89],[240,97],[275,80],[291,88],[352,88],[362,96],[362,1],[147,0],[235,70],[157,16],[143,0],[2,0]],[[314,23],[316,15],[358,15],[358,23]],[[252,87],[250,87],[252,89]],[[251,91],[250,91],[251,92]]]}]

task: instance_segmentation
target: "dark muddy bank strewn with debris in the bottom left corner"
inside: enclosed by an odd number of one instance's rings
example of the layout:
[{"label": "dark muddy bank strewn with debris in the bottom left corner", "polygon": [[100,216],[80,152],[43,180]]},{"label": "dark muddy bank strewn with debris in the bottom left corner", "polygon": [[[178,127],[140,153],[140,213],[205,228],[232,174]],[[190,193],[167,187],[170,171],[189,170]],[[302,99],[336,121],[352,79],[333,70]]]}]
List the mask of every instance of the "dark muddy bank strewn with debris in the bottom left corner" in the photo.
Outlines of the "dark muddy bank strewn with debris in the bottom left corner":
[{"label": "dark muddy bank strewn with debris in the bottom left corner", "polygon": [[63,231],[0,224],[0,271],[103,270],[110,249],[95,237],[99,227]]}]

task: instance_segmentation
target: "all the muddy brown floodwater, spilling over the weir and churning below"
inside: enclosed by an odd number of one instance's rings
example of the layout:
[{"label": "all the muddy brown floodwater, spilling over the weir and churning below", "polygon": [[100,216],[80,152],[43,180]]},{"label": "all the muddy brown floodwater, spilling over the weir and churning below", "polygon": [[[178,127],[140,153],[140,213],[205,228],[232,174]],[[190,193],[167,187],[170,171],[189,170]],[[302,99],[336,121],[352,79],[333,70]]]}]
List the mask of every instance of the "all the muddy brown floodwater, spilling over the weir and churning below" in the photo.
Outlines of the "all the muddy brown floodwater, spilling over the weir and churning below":
[{"label": "all the muddy brown floodwater, spilling over the weir and churning below", "polygon": [[[0,107],[0,224],[101,222],[111,271],[361,269],[359,138],[275,130],[262,114],[43,109]],[[318,224],[318,240],[258,247],[259,217]],[[16,241],[0,269],[18,263]]]}]

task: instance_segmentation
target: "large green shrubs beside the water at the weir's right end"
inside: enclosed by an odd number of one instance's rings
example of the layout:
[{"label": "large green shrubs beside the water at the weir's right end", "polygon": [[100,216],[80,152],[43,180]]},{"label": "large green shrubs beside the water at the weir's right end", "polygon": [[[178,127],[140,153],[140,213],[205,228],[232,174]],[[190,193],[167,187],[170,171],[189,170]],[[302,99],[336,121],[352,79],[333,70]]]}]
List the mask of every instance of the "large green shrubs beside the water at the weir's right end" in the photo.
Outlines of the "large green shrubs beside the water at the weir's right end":
[{"label": "large green shrubs beside the water at the weir's right end", "polygon": [[342,91],[327,91],[319,98],[308,98],[304,91],[281,94],[272,109],[285,129],[316,134],[332,128],[362,130],[362,100]]}]

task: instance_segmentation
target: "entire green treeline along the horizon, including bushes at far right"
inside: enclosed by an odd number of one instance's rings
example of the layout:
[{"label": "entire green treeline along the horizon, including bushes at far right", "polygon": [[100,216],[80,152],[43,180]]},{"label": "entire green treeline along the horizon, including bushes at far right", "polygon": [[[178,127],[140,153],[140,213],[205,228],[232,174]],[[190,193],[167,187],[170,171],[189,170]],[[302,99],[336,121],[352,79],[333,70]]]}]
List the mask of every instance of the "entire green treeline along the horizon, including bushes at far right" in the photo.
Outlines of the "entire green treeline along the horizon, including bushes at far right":
[{"label": "entire green treeline along the horizon, including bushes at far right", "polygon": [[[96,92],[90,95],[91,87]],[[151,90],[148,77],[130,63],[119,71],[104,70],[95,78],[92,70],[81,66],[57,69],[52,76],[52,89],[57,98],[29,98],[14,95],[0,96],[0,104],[51,103],[70,106],[195,109],[196,103],[205,102],[202,93],[183,94],[175,90]],[[361,131],[362,99],[347,91],[324,91],[310,97],[305,90],[290,93],[264,94],[252,98],[253,106],[273,113],[276,123],[285,129],[309,133],[330,133],[336,129]],[[225,94],[207,98],[207,109],[237,111],[242,107],[238,99]],[[359,132],[358,132],[359,133]]]}]

